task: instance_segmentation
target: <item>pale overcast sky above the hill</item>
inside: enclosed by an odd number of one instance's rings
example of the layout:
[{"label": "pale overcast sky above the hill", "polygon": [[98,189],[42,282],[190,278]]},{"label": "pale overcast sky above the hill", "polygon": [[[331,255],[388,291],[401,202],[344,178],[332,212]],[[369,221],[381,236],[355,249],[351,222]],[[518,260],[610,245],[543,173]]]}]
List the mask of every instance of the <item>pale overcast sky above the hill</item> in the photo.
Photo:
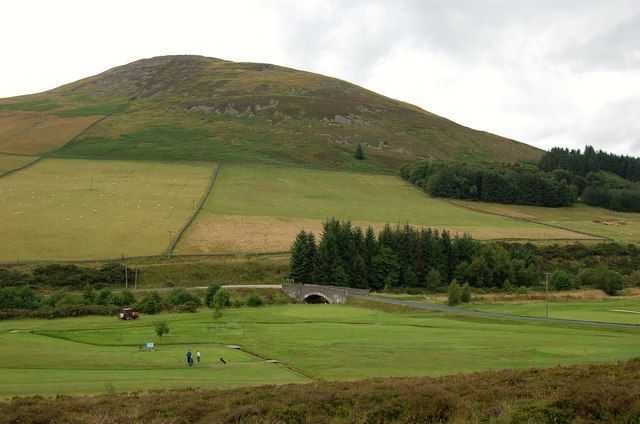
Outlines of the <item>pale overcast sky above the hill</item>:
[{"label": "pale overcast sky above the hill", "polygon": [[0,97],[201,54],[342,78],[542,148],[640,155],[637,0],[16,0]]}]

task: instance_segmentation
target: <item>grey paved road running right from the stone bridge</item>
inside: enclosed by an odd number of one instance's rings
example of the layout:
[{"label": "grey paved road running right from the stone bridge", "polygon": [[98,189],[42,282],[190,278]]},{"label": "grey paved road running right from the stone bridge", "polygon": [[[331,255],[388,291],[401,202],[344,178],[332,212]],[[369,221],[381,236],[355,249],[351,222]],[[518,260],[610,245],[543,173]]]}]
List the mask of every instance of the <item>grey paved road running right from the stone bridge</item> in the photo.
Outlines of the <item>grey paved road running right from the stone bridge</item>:
[{"label": "grey paved road running right from the stone bridge", "polygon": [[424,309],[427,311],[445,312],[449,314],[463,315],[463,316],[470,316],[470,317],[477,317],[477,318],[493,318],[493,319],[512,320],[512,321],[544,322],[544,323],[561,324],[561,325],[582,325],[587,327],[600,327],[600,328],[640,329],[640,325],[638,324],[623,324],[623,323],[600,322],[600,321],[581,321],[581,320],[560,319],[560,318],[547,319],[542,317],[528,317],[523,315],[504,314],[500,312],[488,312],[488,311],[478,311],[474,309],[456,308],[456,307],[447,306],[447,305],[438,305],[435,303],[413,302],[410,300],[398,300],[398,299],[392,299],[388,297],[375,296],[375,295],[353,296],[353,297],[356,299],[386,303],[389,305],[409,306],[411,308]]}]

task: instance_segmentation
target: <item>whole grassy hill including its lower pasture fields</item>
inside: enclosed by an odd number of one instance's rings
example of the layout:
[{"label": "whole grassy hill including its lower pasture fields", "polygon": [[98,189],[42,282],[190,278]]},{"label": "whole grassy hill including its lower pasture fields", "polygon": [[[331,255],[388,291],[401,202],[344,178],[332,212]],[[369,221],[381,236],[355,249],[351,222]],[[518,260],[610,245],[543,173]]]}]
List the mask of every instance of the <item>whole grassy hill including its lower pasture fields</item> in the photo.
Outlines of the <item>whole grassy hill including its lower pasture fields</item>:
[{"label": "whole grassy hill including its lower pasture fields", "polygon": [[[353,155],[359,143],[363,161]],[[9,235],[0,262],[151,256],[168,245],[176,254],[281,252],[300,229],[319,231],[329,217],[485,240],[620,238],[430,199],[379,175],[419,158],[540,154],[310,72],[200,56],[143,59],[0,100],[0,193],[11,200],[0,213]],[[213,164],[221,172],[207,198]]]}]

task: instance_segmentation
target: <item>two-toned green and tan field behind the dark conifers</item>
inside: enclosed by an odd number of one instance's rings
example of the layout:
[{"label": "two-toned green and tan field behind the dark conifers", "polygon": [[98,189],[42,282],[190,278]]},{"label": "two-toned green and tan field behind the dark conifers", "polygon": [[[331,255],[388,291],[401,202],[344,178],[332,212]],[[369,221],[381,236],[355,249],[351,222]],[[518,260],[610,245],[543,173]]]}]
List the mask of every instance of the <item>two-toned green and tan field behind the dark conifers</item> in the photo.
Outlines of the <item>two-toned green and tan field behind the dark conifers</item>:
[{"label": "two-toned green and tan field behind the dark conifers", "polygon": [[477,239],[585,238],[429,198],[395,176],[225,164],[176,252],[286,251],[297,232],[319,233],[330,217],[378,228],[385,223],[447,228]]}]

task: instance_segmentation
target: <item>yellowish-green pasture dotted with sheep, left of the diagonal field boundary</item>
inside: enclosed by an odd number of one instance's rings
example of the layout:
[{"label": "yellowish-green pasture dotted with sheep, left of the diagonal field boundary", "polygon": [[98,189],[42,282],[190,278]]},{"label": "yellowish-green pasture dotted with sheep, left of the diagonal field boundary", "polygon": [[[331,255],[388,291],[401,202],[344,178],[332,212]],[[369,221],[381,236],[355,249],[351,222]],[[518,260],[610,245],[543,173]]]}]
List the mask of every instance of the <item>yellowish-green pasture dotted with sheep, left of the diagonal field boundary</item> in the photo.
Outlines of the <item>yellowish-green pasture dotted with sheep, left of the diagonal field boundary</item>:
[{"label": "yellowish-green pasture dotted with sheep, left of the diagonal field boundary", "polygon": [[0,179],[1,262],[161,254],[212,164],[45,159]]}]

